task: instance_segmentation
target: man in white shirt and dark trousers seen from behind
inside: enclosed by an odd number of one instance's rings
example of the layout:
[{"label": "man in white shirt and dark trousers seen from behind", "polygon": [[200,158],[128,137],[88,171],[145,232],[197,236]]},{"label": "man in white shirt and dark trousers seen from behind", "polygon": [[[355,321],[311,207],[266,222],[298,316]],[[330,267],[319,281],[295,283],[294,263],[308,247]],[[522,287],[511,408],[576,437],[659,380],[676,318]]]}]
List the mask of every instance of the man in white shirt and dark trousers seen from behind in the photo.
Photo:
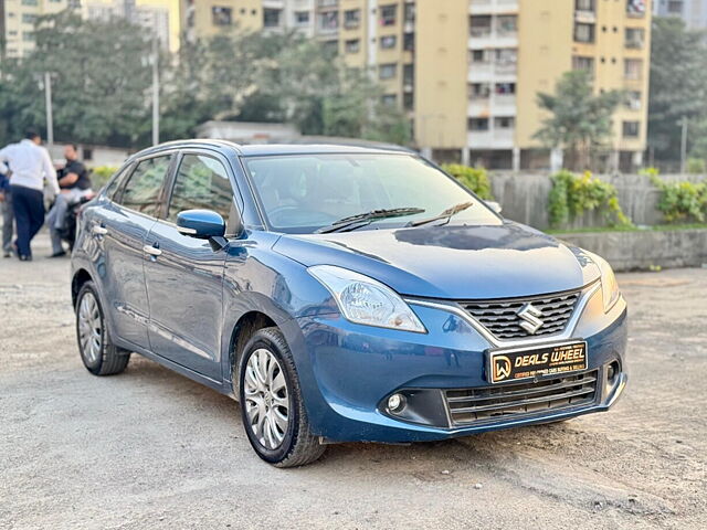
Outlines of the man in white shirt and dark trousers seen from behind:
[{"label": "man in white shirt and dark trousers seen from behind", "polygon": [[40,135],[30,130],[19,144],[10,144],[0,150],[0,162],[7,162],[12,168],[10,193],[18,231],[14,246],[18,257],[23,262],[32,261],[30,243],[44,224],[45,178],[59,194],[56,171],[41,144]]}]

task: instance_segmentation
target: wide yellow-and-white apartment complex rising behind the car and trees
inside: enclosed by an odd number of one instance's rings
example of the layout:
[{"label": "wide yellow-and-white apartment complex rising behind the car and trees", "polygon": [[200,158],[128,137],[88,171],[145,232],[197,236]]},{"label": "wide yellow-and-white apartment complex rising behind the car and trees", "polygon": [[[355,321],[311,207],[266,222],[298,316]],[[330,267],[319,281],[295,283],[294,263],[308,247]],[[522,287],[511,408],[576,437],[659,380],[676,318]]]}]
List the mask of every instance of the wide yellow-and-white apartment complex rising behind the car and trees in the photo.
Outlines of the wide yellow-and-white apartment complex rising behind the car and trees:
[{"label": "wide yellow-and-white apartment complex rising behind the car and trees", "polygon": [[420,149],[490,168],[550,165],[549,151],[534,138],[544,118],[537,93],[552,92],[564,72],[587,70],[597,92],[627,94],[613,120],[610,166],[642,162],[651,28],[645,0],[183,3],[194,35],[234,25],[294,29],[320,40],[349,65],[371,71],[383,100],[409,113]]}]

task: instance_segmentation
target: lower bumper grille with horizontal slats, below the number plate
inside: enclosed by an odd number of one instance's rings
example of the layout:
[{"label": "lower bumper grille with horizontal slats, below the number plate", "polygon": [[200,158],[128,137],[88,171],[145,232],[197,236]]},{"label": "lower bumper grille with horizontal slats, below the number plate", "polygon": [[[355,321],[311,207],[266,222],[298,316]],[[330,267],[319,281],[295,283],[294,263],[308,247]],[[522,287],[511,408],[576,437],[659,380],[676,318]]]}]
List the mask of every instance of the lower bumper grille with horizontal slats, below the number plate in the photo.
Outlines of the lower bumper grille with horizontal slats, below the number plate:
[{"label": "lower bumper grille with horizontal slats, below the number plate", "polygon": [[445,391],[453,425],[561,411],[594,403],[598,371],[524,383]]}]

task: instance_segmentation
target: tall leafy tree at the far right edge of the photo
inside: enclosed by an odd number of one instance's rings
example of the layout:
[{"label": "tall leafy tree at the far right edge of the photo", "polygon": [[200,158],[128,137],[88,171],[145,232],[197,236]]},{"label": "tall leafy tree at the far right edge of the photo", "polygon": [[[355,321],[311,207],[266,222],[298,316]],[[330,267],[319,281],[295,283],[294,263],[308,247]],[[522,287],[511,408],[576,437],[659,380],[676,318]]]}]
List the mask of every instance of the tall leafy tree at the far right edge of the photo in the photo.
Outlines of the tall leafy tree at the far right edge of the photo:
[{"label": "tall leafy tree at the far right edge of the photo", "polygon": [[[648,146],[658,160],[679,160],[680,121],[693,132],[707,129],[707,44],[705,32],[689,31],[679,18],[653,19]],[[692,138],[701,138],[690,134]],[[707,145],[692,146],[707,157]]]}]

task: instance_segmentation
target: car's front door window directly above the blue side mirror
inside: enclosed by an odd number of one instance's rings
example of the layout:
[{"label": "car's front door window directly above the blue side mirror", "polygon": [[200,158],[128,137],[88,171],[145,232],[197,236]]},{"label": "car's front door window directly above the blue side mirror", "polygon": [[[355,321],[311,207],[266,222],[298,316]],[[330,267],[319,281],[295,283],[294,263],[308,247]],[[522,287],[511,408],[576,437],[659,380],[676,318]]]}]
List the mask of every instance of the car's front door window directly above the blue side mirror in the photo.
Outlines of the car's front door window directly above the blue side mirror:
[{"label": "car's front door window directly above the blue side mirror", "polygon": [[184,210],[212,210],[228,220],[232,203],[233,189],[223,163],[207,155],[182,157],[169,202],[169,221],[176,222]]}]

